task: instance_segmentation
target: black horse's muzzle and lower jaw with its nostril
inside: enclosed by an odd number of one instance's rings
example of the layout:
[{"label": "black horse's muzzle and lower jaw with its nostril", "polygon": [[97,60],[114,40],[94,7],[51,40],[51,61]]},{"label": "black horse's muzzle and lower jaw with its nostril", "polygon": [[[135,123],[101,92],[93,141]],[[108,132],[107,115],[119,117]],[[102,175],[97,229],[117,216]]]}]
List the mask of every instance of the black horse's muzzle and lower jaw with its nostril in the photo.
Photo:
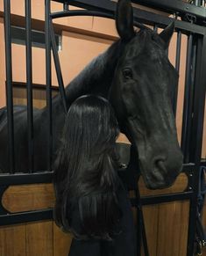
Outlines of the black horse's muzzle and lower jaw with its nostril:
[{"label": "black horse's muzzle and lower jaw with its nostril", "polygon": [[[176,134],[153,130],[147,136],[139,128],[139,120],[128,118],[126,134],[137,151],[139,169],[150,189],[170,187],[182,168],[182,154],[176,139]],[[174,129],[175,133],[175,129]]]}]

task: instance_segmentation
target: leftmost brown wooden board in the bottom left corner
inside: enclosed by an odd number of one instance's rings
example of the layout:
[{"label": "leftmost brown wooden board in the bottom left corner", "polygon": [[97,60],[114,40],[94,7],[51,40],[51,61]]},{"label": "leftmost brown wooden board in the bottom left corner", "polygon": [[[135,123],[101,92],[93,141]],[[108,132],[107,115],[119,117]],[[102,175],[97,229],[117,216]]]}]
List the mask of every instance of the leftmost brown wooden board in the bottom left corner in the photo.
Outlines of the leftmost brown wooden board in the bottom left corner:
[{"label": "leftmost brown wooden board in the bottom left corner", "polygon": [[25,225],[0,227],[0,256],[26,256]]}]

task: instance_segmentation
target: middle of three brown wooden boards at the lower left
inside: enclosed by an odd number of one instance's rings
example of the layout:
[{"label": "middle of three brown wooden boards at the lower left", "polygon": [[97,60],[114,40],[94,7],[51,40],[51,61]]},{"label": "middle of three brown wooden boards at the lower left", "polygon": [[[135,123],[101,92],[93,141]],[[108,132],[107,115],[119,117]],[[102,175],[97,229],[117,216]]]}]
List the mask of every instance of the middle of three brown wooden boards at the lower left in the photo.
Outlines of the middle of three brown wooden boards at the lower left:
[{"label": "middle of three brown wooden boards at the lower left", "polygon": [[53,255],[52,221],[26,224],[26,256],[38,255]]}]

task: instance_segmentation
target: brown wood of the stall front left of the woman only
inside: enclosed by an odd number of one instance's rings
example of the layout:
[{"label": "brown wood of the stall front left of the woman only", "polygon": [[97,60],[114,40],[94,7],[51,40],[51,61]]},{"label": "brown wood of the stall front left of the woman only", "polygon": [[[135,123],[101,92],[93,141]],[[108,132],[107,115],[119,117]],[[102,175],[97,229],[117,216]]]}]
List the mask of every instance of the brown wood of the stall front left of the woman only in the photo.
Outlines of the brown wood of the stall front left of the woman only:
[{"label": "brown wood of the stall front left of the woman only", "polygon": [[[11,213],[53,208],[53,185],[11,186],[3,195]],[[0,227],[0,256],[67,256],[72,238],[53,220]]]}]

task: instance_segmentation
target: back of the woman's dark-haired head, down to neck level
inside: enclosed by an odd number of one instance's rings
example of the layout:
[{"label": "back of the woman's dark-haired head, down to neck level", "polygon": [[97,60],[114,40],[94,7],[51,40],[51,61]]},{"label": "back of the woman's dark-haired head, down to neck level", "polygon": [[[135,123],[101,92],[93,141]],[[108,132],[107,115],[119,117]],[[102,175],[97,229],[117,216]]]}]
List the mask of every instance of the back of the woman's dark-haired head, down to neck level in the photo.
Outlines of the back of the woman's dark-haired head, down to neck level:
[{"label": "back of the woman's dark-haired head, down to neck level", "polygon": [[[70,106],[64,129],[68,146],[83,147],[88,154],[112,147],[119,133],[110,103],[102,97],[85,95]],[[96,152],[97,150],[97,152]]]}]

